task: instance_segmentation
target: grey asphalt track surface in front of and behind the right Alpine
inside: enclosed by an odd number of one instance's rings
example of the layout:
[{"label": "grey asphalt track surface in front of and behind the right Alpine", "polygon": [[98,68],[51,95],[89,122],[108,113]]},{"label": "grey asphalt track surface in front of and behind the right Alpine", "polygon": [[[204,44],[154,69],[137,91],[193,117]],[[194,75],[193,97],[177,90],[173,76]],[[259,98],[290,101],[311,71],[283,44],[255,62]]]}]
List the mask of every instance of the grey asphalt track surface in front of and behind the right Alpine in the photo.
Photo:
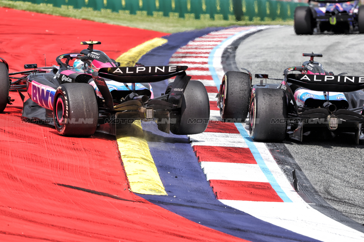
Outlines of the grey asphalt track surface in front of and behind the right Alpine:
[{"label": "grey asphalt track surface in front of and behind the right Alpine", "polygon": [[[297,36],[291,26],[263,30],[242,41],[236,50],[236,65],[250,70],[253,75],[281,78],[285,68],[300,66],[308,60],[302,53],[311,52],[323,54],[315,61],[322,63],[325,70],[363,76],[364,35]],[[258,83],[258,79],[253,81]],[[364,225],[363,141],[356,145],[353,134],[345,133],[333,139],[308,136],[302,143],[285,140],[268,146],[280,157],[278,163],[289,179],[292,179],[293,168],[298,172],[302,170],[317,195]],[[301,180],[300,185],[304,187],[305,182]]]}]

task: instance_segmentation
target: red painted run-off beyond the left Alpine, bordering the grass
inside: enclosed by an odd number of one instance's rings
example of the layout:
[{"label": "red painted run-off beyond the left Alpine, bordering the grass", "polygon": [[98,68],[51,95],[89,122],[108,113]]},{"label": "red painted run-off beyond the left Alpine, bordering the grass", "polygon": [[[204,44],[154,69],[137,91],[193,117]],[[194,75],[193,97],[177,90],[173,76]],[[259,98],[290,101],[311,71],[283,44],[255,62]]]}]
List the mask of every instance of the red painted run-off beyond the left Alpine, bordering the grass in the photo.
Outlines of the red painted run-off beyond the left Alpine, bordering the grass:
[{"label": "red painted run-off beyond the left Alpine, bordering the grass", "polygon": [[116,59],[129,49],[167,33],[71,19],[9,8],[0,8],[0,57],[10,72],[24,70],[24,64],[57,65],[61,54],[79,53],[81,41],[101,41],[94,48]]}]

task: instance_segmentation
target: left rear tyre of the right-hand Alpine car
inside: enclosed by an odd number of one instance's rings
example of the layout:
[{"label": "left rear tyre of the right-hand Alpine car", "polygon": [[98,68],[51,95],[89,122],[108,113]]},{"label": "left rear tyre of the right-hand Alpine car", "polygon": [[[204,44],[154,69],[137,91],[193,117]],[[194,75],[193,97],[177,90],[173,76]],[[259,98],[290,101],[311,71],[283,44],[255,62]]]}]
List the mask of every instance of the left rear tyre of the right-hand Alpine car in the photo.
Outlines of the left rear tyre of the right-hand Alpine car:
[{"label": "left rear tyre of the right-hand Alpine car", "polygon": [[287,131],[287,101],[281,89],[257,88],[250,103],[249,131],[255,141],[281,142]]}]

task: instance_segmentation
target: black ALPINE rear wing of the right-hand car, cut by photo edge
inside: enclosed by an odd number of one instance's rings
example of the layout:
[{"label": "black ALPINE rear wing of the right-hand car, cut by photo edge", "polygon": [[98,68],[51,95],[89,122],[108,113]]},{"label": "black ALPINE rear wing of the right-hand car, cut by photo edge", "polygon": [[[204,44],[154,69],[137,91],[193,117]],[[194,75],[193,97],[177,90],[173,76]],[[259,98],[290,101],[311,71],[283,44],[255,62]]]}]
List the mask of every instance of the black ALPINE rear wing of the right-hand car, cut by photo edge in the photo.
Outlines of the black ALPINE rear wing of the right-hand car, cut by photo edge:
[{"label": "black ALPINE rear wing of the right-hand car, cut by photo edge", "polygon": [[350,92],[364,89],[364,77],[288,74],[287,82],[313,91]]}]

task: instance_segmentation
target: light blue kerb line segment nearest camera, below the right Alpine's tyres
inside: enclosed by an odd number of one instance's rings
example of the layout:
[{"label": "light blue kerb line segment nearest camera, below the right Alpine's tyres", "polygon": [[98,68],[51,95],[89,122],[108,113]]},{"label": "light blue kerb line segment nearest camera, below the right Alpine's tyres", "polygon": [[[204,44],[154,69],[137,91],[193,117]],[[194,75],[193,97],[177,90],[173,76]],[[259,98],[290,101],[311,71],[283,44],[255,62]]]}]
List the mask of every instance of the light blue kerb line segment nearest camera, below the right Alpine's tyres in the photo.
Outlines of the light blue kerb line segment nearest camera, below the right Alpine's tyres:
[{"label": "light blue kerb line segment nearest camera, below the right Alpine's tyres", "polygon": [[248,145],[248,148],[252,152],[254,159],[257,161],[257,164],[259,165],[260,169],[268,179],[268,182],[272,186],[272,188],[277,192],[278,196],[284,201],[284,202],[292,202],[292,200],[289,199],[289,197],[286,195],[286,193],[283,191],[281,186],[278,184],[277,180],[274,178],[272,172],[270,172],[269,168],[265,164],[262,156],[260,155],[257,147],[254,145],[254,142],[252,141],[252,138],[250,138],[248,132],[245,130],[245,127],[242,125],[242,123],[235,123],[236,128],[240,132],[241,136],[243,136],[245,143]]}]

